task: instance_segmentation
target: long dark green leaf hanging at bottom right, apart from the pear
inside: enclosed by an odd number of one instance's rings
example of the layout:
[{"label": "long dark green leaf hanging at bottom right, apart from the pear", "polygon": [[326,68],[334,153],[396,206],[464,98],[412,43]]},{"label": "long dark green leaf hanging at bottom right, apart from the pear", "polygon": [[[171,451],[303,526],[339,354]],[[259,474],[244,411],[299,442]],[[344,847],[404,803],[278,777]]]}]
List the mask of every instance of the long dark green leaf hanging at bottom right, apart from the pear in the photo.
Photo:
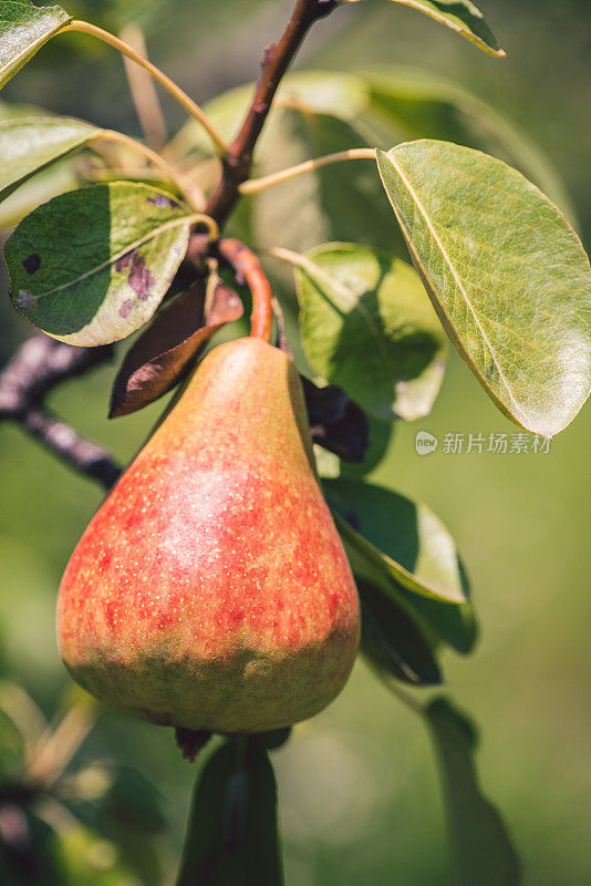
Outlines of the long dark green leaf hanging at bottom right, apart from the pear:
[{"label": "long dark green leaf hanging at bottom right, apart from the pear", "polygon": [[442,773],[457,886],[517,886],[520,865],[507,828],[478,785],[474,755],[478,736],[446,699],[425,708]]}]

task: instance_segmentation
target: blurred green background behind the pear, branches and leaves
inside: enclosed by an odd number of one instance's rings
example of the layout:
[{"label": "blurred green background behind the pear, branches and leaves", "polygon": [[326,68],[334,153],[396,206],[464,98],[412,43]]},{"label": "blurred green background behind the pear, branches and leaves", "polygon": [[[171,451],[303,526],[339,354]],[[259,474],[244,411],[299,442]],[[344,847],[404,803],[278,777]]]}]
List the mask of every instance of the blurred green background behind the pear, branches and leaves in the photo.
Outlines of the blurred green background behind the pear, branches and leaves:
[{"label": "blurred green background behind the pear, branches and leaves", "polygon": [[[123,18],[132,12],[144,17],[154,60],[204,101],[252,79],[260,50],[277,35],[290,3],[185,0],[173,6],[163,0],[120,6]],[[489,59],[413,10],[376,0],[352,4],[322,22],[299,65],[411,64],[469,87],[517,121],[553,159],[589,248],[589,1],[483,0],[480,7],[509,53],[505,61]],[[111,28],[118,24],[115,2],[87,0],[77,3],[76,12]],[[118,59],[84,39],[55,41],[3,99],[138,133]],[[168,102],[165,107],[174,131],[183,117]],[[8,306],[6,291],[2,296],[0,360],[31,331]],[[107,422],[113,372],[102,369],[64,385],[51,405],[123,461],[159,406]],[[439,446],[422,457],[414,444],[419,430],[443,440],[445,433],[488,436],[517,429],[452,354],[433,414],[396,427],[372,476],[428,503],[454,533],[468,566],[481,640],[469,659],[449,655],[444,664],[450,692],[480,727],[481,784],[515,837],[525,883],[587,885],[591,410],[583,410],[549,454],[452,455]],[[0,496],[0,667],[51,717],[71,686],[55,647],[55,594],[101,493],[18,429],[3,425]],[[194,777],[172,732],[102,710],[77,759],[79,765],[116,760],[137,769],[160,792],[166,825],[149,839],[169,877]],[[338,701],[298,727],[274,762],[289,886],[447,882],[443,805],[428,738],[362,663]],[[91,855],[89,864],[98,869],[104,859]]]}]

